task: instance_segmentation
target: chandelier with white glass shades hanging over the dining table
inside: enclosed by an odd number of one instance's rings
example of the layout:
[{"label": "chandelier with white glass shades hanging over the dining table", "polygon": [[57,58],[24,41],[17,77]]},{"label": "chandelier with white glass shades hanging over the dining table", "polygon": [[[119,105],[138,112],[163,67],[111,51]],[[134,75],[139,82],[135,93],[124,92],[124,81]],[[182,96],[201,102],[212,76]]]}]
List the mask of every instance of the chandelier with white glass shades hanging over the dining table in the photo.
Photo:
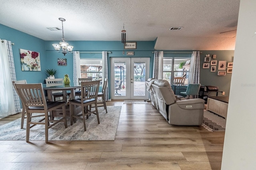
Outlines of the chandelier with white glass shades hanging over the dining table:
[{"label": "chandelier with white glass shades hanging over the dining table", "polygon": [[[59,18],[59,20],[62,22],[62,41],[60,41],[59,44],[53,44],[52,46],[54,47],[54,49],[56,51],[58,51],[58,53],[63,53],[64,56],[66,55],[66,53],[71,53],[73,46],[72,45],[68,45],[67,42],[65,42],[65,38],[64,38],[64,31],[63,31],[63,21],[66,21],[64,18]],[[60,48],[62,48],[62,50],[60,50]]]}]

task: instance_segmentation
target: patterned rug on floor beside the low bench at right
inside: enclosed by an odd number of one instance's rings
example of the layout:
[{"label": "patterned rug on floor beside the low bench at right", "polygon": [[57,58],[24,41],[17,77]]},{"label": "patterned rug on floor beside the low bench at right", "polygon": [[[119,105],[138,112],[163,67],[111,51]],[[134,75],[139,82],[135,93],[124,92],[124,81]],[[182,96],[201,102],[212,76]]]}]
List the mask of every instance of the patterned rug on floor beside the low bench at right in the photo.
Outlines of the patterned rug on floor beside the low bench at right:
[{"label": "patterned rug on floor beside the low bench at right", "polygon": [[226,119],[210,111],[204,110],[204,119],[202,126],[208,131],[225,131]]}]

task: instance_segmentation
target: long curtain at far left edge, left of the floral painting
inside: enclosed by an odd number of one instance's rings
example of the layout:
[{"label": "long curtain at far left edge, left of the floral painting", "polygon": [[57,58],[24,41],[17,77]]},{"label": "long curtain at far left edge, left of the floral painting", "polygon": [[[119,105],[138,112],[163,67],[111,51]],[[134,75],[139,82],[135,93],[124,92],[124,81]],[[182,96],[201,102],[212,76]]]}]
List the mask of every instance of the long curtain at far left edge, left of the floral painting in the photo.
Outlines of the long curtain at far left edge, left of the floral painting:
[{"label": "long curtain at far left edge, left of the floral painting", "polygon": [[0,118],[21,111],[20,98],[12,85],[16,80],[11,41],[0,39]]}]

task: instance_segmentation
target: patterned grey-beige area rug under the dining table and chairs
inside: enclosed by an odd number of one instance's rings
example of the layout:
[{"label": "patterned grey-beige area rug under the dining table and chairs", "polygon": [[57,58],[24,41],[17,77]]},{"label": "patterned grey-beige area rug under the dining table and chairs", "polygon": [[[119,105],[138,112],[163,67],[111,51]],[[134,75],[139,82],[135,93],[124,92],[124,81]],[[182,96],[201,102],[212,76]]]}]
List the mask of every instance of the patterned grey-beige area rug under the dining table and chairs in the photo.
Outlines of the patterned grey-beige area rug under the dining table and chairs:
[{"label": "patterned grey-beige area rug under the dining table and chairs", "polygon": [[[98,107],[100,124],[96,115],[92,114],[86,119],[86,131],[83,121],[78,119],[70,126],[70,118],[67,117],[68,128],[63,123],[58,123],[49,129],[49,141],[114,141],[118,127],[122,106]],[[23,129],[20,129],[21,118],[0,126],[0,140],[25,141],[26,119]],[[30,129],[30,141],[44,141],[44,125],[36,125]]]}]

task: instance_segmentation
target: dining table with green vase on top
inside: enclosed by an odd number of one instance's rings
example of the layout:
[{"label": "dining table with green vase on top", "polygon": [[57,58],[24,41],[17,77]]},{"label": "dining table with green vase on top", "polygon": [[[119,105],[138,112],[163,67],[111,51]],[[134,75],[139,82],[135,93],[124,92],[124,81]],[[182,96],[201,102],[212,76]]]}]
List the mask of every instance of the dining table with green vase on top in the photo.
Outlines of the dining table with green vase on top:
[{"label": "dining table with green vase on top", "polygon": [[[62,84],[62,85],[58,85],[58,86],[48,86],[47,84],[42,84],[43,85],[43,89],[47,91],[47,95],[48,95],[48,100],[49,101],[53,101],[53,97],[52,97],[52,92],[54,91],[62,91],[63,92],[63,101],[67,102],[68,98],[67,98],[67,91],[70,91],[70,99],[75,99],[75,92],[76,89],[79,89],[81,86],[74,86],[73,82],[70,82],[70,84],[66,85],[66,84]],[[73,112],[74,113],[79,113],[81,110],[81,107],[75,107]],[[62,108],[56,109],[54,111],[52,111],[53,116],[59,116],[62,115]],[[69,105],[66,105],[66,115],[70,116],[70,109],[69,109]]]}]

